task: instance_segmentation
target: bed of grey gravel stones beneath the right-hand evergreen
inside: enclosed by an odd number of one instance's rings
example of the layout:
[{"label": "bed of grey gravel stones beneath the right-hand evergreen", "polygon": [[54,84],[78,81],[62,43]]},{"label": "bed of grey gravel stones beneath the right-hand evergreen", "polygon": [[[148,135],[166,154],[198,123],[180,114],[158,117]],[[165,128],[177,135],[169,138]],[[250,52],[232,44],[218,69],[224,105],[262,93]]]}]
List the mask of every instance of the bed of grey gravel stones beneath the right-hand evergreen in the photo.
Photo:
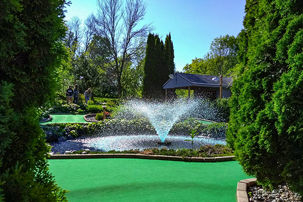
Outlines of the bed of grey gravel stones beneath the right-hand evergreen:
[{"label": "bed of grey gravel stones beneath the right-hand evergreen", "polygon": [[301,197],[299,194],[294,193],[289,190],[286,184],[279,185],[277,189],[273,191],[265,190],[262,186],[255,185],[247,187],[247,194],[249,201],[251,202],[261,202],[261,201],[271,201],[271,202],[301,202]]}]

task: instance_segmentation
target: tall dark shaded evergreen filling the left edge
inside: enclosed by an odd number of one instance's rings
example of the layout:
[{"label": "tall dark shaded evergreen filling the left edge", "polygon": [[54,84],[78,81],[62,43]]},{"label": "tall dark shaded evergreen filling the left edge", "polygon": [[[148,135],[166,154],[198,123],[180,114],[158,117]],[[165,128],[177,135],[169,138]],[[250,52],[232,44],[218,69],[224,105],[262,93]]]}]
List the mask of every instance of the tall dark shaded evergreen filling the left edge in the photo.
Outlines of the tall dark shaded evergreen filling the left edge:
[{"label": "tall dark shaded evergreen filling the left edge", "polygon": [[36,109],[56,89],[64,0],[0,1],[0,200],[66,201],[48,171]]}]

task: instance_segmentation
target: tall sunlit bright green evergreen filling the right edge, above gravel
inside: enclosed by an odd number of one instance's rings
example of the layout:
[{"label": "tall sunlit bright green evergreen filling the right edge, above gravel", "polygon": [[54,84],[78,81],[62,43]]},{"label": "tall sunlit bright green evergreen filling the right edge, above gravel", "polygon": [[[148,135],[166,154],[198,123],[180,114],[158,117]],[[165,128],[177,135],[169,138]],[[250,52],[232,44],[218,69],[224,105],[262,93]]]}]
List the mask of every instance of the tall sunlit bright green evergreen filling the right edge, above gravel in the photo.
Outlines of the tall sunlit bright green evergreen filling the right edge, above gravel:
[{"label": "tall sunlit bright green evergreen filling the right edge, above gravel", "polygon": [[263,185],[303,195],[303,3],[247,1],[227,141]]}]

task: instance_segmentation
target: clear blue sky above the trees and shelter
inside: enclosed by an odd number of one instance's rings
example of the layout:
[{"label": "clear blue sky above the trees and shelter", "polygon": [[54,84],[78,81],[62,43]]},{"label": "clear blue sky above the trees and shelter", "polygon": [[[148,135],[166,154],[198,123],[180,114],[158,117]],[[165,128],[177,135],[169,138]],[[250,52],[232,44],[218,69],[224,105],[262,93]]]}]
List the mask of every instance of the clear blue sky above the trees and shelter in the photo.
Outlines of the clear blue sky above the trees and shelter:
[{"label": "clear blue sky above the trees and shelter", "polygon": [[[96,14],[96,0],[72,0],[66,20],[78,16],[84,21]],[[176,70],[182,71],[194,58],[209,52],[214,38],[234,35],[243,29],[245,0],[143,0],[144,24],[153,23],[154,33],[165,40],[169,32],[175,51]]]}]

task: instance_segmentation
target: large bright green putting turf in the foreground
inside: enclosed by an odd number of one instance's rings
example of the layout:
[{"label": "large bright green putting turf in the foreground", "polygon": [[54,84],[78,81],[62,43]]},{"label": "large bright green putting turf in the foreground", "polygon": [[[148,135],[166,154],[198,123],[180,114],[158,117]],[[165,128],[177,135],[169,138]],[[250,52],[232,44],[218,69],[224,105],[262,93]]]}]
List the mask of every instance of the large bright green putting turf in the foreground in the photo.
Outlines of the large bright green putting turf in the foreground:
[{"label": "large bright green putting turf in the foreground", "polygon": [[236,161],[194,163],[143,159],[48,160],[69,201],[236,201],[249,178]]}]

